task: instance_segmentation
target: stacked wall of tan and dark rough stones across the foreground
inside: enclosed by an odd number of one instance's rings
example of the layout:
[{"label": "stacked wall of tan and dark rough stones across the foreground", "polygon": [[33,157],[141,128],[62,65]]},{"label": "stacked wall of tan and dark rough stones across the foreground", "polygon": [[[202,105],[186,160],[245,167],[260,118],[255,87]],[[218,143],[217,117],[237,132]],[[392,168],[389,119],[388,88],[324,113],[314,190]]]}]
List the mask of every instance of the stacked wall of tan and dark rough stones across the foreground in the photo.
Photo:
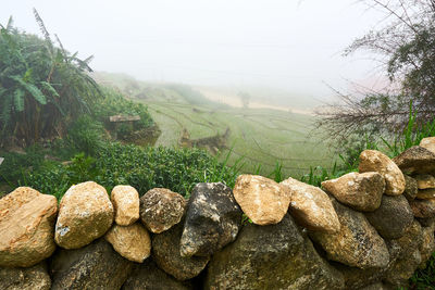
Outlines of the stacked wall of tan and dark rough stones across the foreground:
[{"label": "stacked wall of tan and dark rough stones across the foreground", "polygon": [[0,289],[396,289],[435,251],[435,138],[322,189],[241,175],[234,189],[88,181],[60,203],[0,200]]}]

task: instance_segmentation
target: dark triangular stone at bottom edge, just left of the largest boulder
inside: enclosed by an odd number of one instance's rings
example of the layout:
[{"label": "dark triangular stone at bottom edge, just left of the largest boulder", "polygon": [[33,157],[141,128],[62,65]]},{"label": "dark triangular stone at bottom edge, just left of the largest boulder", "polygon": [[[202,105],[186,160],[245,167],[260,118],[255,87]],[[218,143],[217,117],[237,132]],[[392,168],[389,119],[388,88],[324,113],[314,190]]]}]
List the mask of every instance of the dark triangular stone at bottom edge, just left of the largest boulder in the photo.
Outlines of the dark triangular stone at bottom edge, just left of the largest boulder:
[{"label": "dark triangular stone at bottom edge, just left of the largest boulder", "polygon": [[136,265],[125,281],[122,290],[189,290],[189,282],[182,282],[161,270],[156,263],[148,259],[144,264]]}]

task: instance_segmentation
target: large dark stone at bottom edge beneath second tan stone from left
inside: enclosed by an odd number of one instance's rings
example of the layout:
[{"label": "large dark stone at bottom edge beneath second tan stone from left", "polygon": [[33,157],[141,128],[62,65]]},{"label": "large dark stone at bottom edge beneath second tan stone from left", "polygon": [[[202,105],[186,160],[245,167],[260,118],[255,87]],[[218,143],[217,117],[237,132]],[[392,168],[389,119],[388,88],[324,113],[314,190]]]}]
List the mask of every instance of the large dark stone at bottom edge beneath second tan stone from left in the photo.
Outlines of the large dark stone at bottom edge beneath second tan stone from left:
[{"label": "large dark stone at bottom edge beneath second tan stone from left", "polygon": [[134,263],[117,254],[104,239],[76,250],[60,250],[51,260],[52,290],[117,290]]}]

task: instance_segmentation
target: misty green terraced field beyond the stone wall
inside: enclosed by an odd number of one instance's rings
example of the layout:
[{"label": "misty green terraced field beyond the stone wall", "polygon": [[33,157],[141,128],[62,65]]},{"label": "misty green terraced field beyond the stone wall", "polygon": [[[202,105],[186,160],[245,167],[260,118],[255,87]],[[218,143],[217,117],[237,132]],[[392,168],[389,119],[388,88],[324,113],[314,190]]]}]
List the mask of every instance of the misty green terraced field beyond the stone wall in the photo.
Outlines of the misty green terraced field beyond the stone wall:
[{"label": "misty green terraced field beyond the stone wall", "polygon": [[231,151],[228,165],[241,159],[243,172],[259,171],[268,176],[278,163],[284,177],[300,177],[310,166],[333,166],[333,154],[319,133],[312,131],[311,115],[223,105],[204,99],[187,86],[134,84],[125,76],[104,79],[105,85],[111,81],[129,98],[148,105],[162,130],[156,146],[179,146],[183,129],[189,133],[190,139],[200,139],[222,135],[229,128],[226,148],[221,148],[220,157],[225,160]]}]

